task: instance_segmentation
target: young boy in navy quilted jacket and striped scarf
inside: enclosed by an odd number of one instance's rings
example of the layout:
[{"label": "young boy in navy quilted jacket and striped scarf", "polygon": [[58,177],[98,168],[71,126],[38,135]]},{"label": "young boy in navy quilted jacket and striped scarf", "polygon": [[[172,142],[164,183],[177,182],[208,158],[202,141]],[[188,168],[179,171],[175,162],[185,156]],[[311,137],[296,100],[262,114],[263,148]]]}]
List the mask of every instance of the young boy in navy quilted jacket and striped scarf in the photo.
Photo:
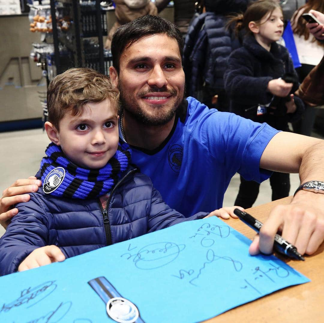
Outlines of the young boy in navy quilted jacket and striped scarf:
[{"label": "young boy in navy quilted jacket and striped scarf", "polygon": [[[43,186],[0,239],[0,275],[63,261],[170,225],[201,219],[172,210],[119,143],[118,90],[88,68],[56,76],[47,92],[52,143],[36,175]],[[233,217],[234,207],[209,214]]]}]

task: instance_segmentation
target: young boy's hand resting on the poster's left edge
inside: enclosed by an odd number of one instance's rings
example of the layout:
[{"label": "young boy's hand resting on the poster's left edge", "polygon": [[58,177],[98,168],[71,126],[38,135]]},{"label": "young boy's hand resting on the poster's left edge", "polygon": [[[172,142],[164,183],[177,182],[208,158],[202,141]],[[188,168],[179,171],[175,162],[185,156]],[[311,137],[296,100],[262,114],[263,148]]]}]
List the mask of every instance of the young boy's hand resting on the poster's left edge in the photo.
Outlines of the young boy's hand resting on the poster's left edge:
[{"label": "young boy's hand resting on the poster's left edge", "polygon": [[24,271],[63,261],[65,256],[57,246],[45,246],[35,249],[19,265],[18,271]]}]

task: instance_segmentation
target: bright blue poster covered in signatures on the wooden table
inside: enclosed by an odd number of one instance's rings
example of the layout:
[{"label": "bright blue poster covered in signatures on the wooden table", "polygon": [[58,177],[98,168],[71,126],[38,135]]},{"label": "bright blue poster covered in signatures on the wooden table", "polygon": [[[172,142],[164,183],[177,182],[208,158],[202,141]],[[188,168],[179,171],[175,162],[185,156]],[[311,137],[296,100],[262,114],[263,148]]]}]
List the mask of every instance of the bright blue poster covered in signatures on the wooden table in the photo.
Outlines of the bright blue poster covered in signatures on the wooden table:
[{"label": "bright blue poster covered in signatures on the wooden table", "polygon": [[309,281],[249,244],[212,217],[6,275],[0,322],[199,322]]}]

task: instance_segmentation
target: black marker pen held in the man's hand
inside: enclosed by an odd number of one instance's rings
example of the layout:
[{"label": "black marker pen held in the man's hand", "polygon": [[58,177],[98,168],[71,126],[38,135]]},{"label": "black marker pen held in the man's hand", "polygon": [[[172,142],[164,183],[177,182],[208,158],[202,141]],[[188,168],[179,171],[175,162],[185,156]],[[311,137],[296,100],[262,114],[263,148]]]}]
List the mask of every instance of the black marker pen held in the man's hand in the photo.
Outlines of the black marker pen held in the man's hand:
[{"label": "black marker pen held in the man's hand", "polygon": [[[235,209],[234,214],[236,214],[240,220],[242,220],[245,224],[247,224],[250,228],[257,232],[259,232],[261,227],[263,226],[262,222],[253,218],[253,216],[249,213],[243,212],[239,209]],[[298,260],[305,260],[305,258],[297,251],[297,248],[288,241],[284,240],[284,238],[279,234],[276,234],[274,236],[273,248],[279,253],[283,253],[289,257]]]}]

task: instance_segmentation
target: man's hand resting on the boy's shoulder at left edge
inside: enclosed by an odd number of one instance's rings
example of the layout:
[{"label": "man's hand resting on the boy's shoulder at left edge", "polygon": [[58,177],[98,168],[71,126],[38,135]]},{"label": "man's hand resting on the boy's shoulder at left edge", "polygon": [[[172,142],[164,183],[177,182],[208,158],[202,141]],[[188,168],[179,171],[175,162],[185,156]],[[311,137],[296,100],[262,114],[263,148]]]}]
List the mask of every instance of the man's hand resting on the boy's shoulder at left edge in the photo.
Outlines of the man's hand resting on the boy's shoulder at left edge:
[{"label": "man's hand resting on the boy's shoulder at left edge", "polygon": [[27,193],[36,192],[41,181],[31,176],[28,179],[18,179],[6,188],[0,198],[0,224],[6,229],[10,219],[18,213],[18,209],[11,209],[14,204],[27,202],[30,196]]}]

